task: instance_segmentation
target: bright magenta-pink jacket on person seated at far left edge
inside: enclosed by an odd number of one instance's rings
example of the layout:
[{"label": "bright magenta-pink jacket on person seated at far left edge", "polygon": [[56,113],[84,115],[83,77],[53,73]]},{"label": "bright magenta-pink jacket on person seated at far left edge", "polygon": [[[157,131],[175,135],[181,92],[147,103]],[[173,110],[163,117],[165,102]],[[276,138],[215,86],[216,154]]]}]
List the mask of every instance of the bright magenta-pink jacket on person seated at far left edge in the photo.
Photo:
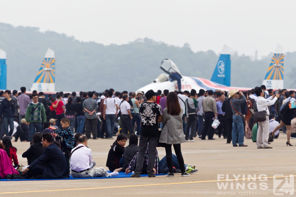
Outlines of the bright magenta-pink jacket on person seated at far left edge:
[{"label": "bright magenta-pink jacket on person seated at far left edge", "polygon": [[6,178],[8,174],[19,174],[11,164],[5,150],[0,149],[0,177]]}]

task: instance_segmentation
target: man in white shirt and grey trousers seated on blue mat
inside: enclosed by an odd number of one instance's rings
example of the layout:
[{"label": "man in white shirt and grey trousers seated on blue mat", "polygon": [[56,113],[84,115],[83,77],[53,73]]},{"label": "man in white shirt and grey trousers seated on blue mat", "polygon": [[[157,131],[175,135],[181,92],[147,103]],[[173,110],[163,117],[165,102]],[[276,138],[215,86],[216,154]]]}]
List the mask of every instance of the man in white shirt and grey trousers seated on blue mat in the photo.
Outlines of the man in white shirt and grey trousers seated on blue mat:
[{"label": "man in white shirt and grey trousers seated on blue mat", "polygon": [[110,177],[118,172],[107,172],[103,167],[91,168],[91,149],[87,148],[86,136],[78,138],[78,145],[71,151],[71,176],[73,178]]}]

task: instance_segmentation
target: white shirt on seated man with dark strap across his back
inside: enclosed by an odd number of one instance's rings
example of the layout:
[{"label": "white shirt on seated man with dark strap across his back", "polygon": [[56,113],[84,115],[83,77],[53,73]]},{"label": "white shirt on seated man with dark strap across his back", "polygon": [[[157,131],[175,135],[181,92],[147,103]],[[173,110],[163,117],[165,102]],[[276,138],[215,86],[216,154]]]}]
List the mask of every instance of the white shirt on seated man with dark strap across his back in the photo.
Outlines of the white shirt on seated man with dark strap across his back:
[{"label": "white shirt on seated man with dark strap across his back", "polygon": [[[84,146],[83,144],[78,144],[75,148],[71,150],[73,152],[79,146]],[[82,170],[86,170],[90,168],[90,164],[92,163],[91,149],[86,146],[79,148],[73,152],[71,155],[71,165],[70,169],[75,170],[76,172],[80,172]]]}]

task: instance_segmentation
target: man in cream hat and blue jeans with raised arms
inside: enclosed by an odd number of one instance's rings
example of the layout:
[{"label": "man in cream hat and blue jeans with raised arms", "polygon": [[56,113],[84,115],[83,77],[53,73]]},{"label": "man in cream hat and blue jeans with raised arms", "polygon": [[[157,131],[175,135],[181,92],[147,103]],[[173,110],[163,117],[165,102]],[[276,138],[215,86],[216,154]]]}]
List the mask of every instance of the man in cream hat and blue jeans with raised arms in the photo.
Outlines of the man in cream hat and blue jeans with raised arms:
[{"label": "man in cream hat and blue jeans with raised arms", "polygon": [[[237,92],[239,95],[242,97],[242,99],[237,99]],[[237,146],[237,133],[239,134],[238,142],[239,146],[248,146],[244,145],[244,124],[242,121],[242,109],[241,109],[241,104],[244,102],[247,102],[246,97],[241,91],[231,89],[229,91],[229,96],[230,98],[230,106],[232,109],[232,145]]]}]

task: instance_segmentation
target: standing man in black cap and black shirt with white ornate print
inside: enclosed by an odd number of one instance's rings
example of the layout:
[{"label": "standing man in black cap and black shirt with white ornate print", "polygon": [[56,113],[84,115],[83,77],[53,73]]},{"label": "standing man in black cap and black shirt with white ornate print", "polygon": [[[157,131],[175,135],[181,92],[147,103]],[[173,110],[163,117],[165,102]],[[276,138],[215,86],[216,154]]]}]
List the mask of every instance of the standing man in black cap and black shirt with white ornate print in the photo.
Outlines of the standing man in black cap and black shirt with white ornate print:
[{"label": "standing man in black cap and black shirt with white ornate print", "polygon": [[139,105],[139,114],[141,117],[141,131],[139,140],[139,152],[137,156],[136,170],[131,177],[140,177],[142,172],[144,155],[149,143],[149,159],[147,165],[148,177],[155,177],[155,151],[158,143],[158,123],[161,122],[161,106],[156,104],[158,92],[152,89],[145,94],[147,102]]}]

